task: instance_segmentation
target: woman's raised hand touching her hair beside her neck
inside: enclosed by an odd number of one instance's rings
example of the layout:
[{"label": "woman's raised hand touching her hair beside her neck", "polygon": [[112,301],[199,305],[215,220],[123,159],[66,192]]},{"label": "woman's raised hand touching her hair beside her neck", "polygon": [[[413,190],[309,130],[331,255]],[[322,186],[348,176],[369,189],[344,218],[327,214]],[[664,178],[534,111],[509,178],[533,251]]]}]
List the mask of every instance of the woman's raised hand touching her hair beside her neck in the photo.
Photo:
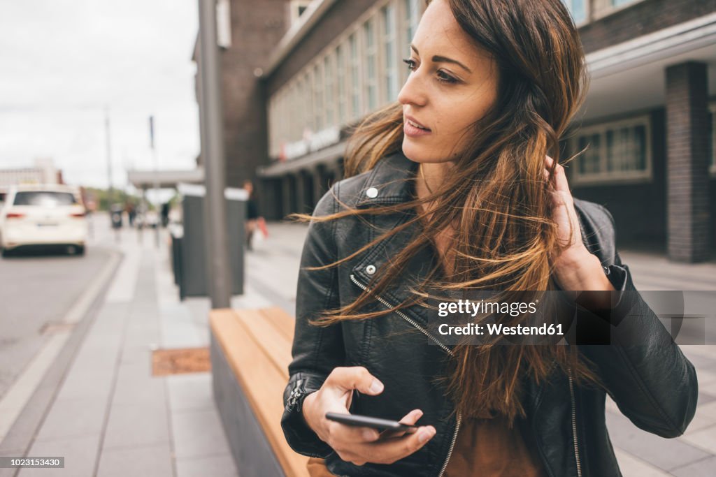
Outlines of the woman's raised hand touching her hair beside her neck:
[{"label": "woman's raised hand touching her hair beside her neck", "polygon": [[563,290],[614,290],[604,275],[599,258],[592,255],[582,242],[579,217],[564,167],[557,164],[550,177],[554,159],[545,157],[544,177],[553,200],[552,220],[557,224],[557,240],[562,250],[551,257],[554,273]]}]

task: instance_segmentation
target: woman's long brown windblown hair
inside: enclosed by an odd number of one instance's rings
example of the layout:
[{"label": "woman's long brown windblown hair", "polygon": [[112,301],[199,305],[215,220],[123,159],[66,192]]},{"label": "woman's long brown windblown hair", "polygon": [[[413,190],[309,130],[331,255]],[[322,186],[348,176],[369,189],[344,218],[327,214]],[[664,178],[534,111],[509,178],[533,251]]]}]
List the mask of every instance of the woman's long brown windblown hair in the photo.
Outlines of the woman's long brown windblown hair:
[{"label": "woman's long brown windblown hair", "polygon": [[[500,290],[522,297],[526,290],[553,290],[549,257],[561,251],[552,203],[543,179],[546,154],[561,162],[559,139],[584,101],[587,76],[579,34],[561,0],[448,0],[460,27],[475,46],[493,56],[498,65],[498,99],[474,124],[468,146],[445,174],[442,185],[421,199],[400,205],[347,208],[312,220],[337,220],[349,215],[417,211],[414,218],[377,237],[348,257],[326,265],[340,265],[377,242],[410,227],[421,233],[405,244],[354,303],[327,310],[314,323],[376,318],[405,308],[431,290]],[[430,3],[430,0],[427,1]],[[346,175],[372,169],[387,154],[400,151],[403,139],[402,105],[372,114],[349,140]],[[553,169],[551,170],[553,174]],[[430,203],[427,207],[420,207]],[[435,213],[437,211],[437,213]],[[304,219],[310,217],[303,216]],[[380,295],[415,253],[435,244],[440,232],[451,230],[452,272],[441,280],[432,270],[415,296],[392,310],[361,312]],[[417,297],[417,298],[416,298]],[[513,325],[526,318],[498,317]],[[563,345],[457,345],[450,373],[445,377],[456,410],[466,415],[484,411],[506,415],[512,423],[525,415],[521,378],[540,383],[554,364],[578,383],[599,379],[577,354]]]}]

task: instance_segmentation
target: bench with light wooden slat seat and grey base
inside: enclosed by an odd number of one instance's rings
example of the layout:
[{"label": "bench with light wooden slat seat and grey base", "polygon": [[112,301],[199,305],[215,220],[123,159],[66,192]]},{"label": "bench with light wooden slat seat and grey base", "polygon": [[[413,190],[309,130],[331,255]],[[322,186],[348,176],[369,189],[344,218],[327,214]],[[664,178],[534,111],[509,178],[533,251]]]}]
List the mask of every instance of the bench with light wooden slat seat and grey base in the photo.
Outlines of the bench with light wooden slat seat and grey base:
[{"label": "bench with light wooden slat seat and grey base", "polygon": [[241,477],[308,477],[281,430],[294,318],[281,308],[212,310],[213,392]]}]

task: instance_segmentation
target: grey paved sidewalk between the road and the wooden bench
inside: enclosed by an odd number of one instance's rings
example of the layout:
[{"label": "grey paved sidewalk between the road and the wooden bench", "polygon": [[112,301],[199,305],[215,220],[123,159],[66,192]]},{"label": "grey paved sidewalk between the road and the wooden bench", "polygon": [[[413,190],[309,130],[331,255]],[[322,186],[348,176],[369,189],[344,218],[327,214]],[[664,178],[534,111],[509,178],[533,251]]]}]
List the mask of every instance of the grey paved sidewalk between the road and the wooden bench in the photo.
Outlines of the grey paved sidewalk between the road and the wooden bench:
[{"label": "grey paved sidewalk between the road and the wooden bench", "polygon": [[[0,469],[0,476],[237,476],[211,373],[151,374],[154,349],[208,347],[208,299],[178,300],[165,231],[160,249],[153,231],[140,244],[137,232],[122,230],[115,244],[105,220],[96,220],[95,245],[117,247],[120,267],[52,405],[26,406],[44,413],[37,433],[19,418],[0,446],[3,456],[64,456],[65,466]],[[248,288],[232,306],[269,304]],[[32,433],[27,451],[12,447],[23,432]]]}]

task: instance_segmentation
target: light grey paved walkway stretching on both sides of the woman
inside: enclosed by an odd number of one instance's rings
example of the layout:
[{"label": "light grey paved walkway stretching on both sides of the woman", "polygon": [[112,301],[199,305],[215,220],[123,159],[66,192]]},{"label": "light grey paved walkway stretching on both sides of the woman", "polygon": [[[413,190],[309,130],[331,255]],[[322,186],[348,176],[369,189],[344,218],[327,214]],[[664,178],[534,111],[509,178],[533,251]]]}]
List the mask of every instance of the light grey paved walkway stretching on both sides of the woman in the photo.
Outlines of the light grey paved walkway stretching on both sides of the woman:
[{"label": "light grey paved walkway stretching on both sides of the woman", "polygon": [[[97,225],[97,241],[113,244],[111,235],[99,233],[102,227]],[[257,240],[247,255],[246,294],[234,297],[232,306],[276,304],[293,315],[306,227],[270,230],[271,237]],[[150,369],[153,349],[208,346],[208,300],[178,300],[164,240],[156,250],[153,235],[145,232],[140,244],[135,232],[125,230],[115,246],[124,254],[120,268],[51,405],[41,410],[39,426],[23,428],[32,421],[26,415],[38,413],[28,405],[0,444],[3,456],[65,456],[65,468],[0,469],[0,477],[236,476],[211,373],[153,377]],[[622,257],[638,287],[716,290],[716,264],[674,265],[629,252]],[[608,403],[607,423],[625,477],[713,475],[716,346],[683,349],[697,366],[701,391],[684,436],[667,440],[644,433]]]}]

